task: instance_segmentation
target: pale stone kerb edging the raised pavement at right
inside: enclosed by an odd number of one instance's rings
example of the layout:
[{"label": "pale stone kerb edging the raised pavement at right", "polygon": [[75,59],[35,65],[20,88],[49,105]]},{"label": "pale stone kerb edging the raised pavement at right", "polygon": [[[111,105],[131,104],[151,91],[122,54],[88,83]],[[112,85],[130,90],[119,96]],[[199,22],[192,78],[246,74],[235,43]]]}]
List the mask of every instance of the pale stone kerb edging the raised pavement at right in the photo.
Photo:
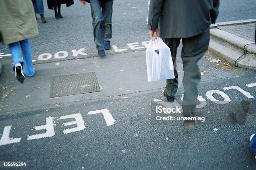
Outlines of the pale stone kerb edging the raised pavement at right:
[{"label": "pale stone kerb edging the raised pavement at right", "polygon": [[[243,20],[243,23],[256,22]],[[240,24],[238,21],[225,22],[223,24]],[[209,50],[225,59],[234,66],[256,70],[256,46],[252,41],[235,36],[218,29],[218,23],[210,29]]]}]

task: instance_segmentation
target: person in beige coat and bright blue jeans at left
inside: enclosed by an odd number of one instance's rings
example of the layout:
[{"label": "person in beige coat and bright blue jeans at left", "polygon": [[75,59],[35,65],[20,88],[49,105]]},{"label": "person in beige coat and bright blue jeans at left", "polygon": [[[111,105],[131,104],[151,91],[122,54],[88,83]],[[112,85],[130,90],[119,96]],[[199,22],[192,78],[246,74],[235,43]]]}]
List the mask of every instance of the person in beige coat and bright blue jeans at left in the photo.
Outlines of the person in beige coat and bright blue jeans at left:
[{"label": "person in beige coat and bright blue jeans at left", "polygon": [[[13,58],[13,71],[20,83],[35,74],[29,39],[38,34],[31,0],[0,0],[0,36],[8,44]],[[20,56],[20,47],[23,57]],[[24,73],[23,73],[24,71]]]}]

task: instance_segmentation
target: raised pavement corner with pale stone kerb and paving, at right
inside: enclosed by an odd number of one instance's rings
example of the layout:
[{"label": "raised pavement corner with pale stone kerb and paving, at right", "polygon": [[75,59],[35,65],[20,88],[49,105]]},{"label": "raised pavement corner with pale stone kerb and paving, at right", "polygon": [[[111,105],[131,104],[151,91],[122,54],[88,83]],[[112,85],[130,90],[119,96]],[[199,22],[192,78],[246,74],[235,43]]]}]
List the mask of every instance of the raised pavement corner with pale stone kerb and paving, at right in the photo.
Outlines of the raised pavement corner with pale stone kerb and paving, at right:
[{"label": "raised pavement corner with pale stone kerb and paving, at right", "polygon": [[211,25],[210,51],[234,66],[256,70],[255,24],[256,19]]}]

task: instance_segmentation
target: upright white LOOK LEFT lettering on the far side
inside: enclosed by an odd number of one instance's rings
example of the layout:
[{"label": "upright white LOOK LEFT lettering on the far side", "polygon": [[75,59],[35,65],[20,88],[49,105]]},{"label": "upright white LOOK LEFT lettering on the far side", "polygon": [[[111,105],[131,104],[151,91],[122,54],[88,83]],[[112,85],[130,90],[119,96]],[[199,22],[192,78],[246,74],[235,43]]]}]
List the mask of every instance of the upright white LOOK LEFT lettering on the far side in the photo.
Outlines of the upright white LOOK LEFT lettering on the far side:
[{"label": "upright white LOOK LEFT lettering on the far side", "polygon": [[[118,46],[113,45],[112,48],[116,53],[121,53],[123,51],[128,51],[128,49],[131,50],[139,50],[139,49],[143,49],[143,48],[147,48],[148,47],[148,43],[149,41],[143,41],[141,43],[128,43],[127,44],[127,48],[118,48]],[[87,56],[88,54],[85,52],[85,48],[80,48],[79,50],[71,50],[71,55],[73,57],[77,57],[78,55],[80,56]],[[4,54],[4,53],[0,53],[0,58],[4,57],[4,56],[11,56],[11,54]],[[55,59],[61,59],[61,58],[67,58],[69,56],[69,52],[68,51],[58,51],[56,52],[54,55],[52,55],[51,53],[42,53],[37,57],[38,61],[44,61],[44,60],[50,60],[51,58],[55,58]],[[33,62],[35,62],[36,60],[33,60]]]}]

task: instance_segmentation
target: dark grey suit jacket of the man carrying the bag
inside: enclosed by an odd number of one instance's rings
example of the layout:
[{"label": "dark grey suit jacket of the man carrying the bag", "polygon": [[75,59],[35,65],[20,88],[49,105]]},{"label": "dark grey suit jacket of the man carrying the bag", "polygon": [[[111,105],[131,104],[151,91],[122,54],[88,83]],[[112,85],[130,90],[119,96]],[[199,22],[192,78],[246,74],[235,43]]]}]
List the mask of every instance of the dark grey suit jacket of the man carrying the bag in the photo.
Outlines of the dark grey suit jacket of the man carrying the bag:
[{"label": "dark grey suit jacket of the man carrying the bag", "polygon": [[161,38],[188,38],[211,24],[213,0],[151,0],[148,29],[159,28]]}]

